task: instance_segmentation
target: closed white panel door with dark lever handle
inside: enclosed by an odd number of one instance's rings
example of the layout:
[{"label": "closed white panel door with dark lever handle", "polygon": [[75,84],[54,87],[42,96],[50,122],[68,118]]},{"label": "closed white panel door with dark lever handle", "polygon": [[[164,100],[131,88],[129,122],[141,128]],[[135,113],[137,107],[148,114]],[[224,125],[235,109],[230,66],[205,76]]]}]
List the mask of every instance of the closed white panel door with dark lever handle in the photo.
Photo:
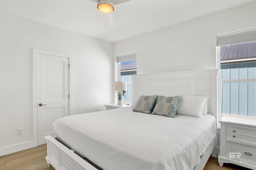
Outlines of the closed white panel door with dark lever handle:
[{"label": "closed white panel door with dark lever handle", "polygon": [[38,54],[38,145],[56,137],[52,122],[69,115],[69,58]]}]

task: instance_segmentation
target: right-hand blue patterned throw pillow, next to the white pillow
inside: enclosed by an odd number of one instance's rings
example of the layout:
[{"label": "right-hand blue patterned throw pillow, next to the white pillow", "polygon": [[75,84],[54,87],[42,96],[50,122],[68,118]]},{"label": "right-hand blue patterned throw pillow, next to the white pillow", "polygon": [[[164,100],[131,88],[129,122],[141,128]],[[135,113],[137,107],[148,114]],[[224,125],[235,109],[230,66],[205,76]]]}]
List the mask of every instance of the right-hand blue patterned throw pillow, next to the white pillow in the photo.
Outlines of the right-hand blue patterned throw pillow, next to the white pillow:
[{"label": "right-hand blue patterned throw pillow, next to the white pillow", "polygon": [[156,106],[152,114],[175,117],[176,111],[183,96],[158,96]]}]

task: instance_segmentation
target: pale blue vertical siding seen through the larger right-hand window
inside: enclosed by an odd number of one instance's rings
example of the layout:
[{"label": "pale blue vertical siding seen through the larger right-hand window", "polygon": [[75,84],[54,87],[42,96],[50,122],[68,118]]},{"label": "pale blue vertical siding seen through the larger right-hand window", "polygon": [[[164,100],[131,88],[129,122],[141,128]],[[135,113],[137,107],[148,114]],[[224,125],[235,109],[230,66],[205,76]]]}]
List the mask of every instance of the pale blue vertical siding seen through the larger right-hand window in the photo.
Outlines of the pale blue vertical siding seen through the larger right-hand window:
[{"label": "pale blue vertical siding seen through the larger right-hand window", "polygon": [[250,81],[256,78],[256,63],[221,65],[220,69],[221,79],[226,80],[222,82],[222,113],[256,116],[256,82]]}]

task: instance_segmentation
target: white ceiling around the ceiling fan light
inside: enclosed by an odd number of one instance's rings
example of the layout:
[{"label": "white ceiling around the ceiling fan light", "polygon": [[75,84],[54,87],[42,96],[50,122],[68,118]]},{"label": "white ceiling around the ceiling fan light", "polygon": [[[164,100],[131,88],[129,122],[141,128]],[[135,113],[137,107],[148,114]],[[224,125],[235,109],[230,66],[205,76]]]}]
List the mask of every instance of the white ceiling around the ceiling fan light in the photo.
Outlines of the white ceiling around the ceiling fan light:
[{"label": "white ceiling around the ceiling fan light", "polygon": [[232,8],[254,0],[130,0],[116,4],[113,25],[90,0],[0,0],[1,11],[109,42]]}]

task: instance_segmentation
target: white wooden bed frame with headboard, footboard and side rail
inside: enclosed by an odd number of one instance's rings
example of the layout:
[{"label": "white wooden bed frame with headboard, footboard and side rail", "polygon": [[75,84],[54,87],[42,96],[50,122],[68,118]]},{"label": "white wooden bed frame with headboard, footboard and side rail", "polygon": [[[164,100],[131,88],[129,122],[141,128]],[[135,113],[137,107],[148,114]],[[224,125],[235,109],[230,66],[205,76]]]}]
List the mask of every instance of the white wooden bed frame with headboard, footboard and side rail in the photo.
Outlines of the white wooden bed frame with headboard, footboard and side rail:
[{"label": "white wooden bed frame with headboard, footboard and side rail", "polygon": [[[208,100],[208,114],[217,120],[217,85],[218,69],[168,72],[156,74],[137,74],[132,76],[132,100],[137,101],[141,95],[164,96],[210,96]],[[94,166],[80,158],[72,150],[56,141],[51,136],[45,137],[47,141],[46,161],[56,170],[96,170]],[[201,156],[200,164],[194,170],[202,170],[210,157],[216,157],[216,139]]]}]

